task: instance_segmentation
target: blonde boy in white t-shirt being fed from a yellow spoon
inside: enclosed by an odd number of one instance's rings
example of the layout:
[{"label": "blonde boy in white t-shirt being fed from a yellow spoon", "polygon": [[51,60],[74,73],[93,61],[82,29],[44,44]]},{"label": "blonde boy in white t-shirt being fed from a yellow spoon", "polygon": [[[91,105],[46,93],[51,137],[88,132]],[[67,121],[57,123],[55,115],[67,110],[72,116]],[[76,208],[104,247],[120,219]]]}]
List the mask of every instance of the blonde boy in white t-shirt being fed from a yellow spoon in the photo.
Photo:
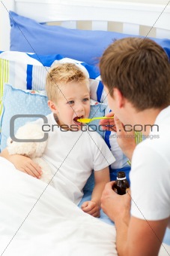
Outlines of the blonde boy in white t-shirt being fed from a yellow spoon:
[{"label": "blonde boy in white t-shirt being fed from a yellow spoon", "polygon": [[[52,180],[56,189],[67,198],[79,204],[82,189],[94,169],[95,187],[91,201],[82,204],[82,210],[94,217],[100,217],[100,197],[106,182],[109,181],[109,165],[115,157],[104,140],[94,130],[86,129],[77,121],[88,117],[90,112],[90,90],[88,78],[78,66],[72,63],[58,64],[50,70],[46,78],[48,105],[52,114],[36,123],[48,133],[48,142],[43,159],[52,168]],[[23,156],[9,156],[1,153],[12,162],[16,169],[34,177],[40,177],[40,166]]]}]

